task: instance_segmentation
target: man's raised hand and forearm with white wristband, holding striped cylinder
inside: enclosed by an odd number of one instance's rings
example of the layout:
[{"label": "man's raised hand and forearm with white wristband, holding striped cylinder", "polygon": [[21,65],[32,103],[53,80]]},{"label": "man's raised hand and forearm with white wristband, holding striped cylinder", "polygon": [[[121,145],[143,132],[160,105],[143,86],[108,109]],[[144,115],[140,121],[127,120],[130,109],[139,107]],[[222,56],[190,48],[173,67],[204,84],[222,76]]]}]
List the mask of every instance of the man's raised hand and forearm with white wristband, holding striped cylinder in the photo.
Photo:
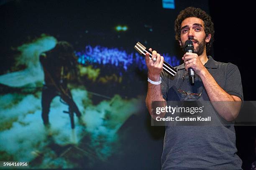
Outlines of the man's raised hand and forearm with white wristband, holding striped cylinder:
[{"label": "man's raised hand and forearm with white wristband, holding striped cylinder", "polygon": [[[149,49],[152,51],[152,49]],[[156,61],[153,58],[156,57]],[[146,65],[148,67],[148,78],[152,81],[160,81],[160,74],[163,70],[164,57],[160,56],[156,51],[152,52],[152,60],[149,58],[149,54],[146,53]],[[154,85],[148,82],[148,93],[146,97],[146,105],[148,108],[148,112],[150,113],[153,119],[156,119],[156,116],[164,117],[165,113],[161,113],[160,115],[153,115],[151,104],[153,101],[163,101],[163,106],[165,107],[166,101],[163,98],[161,91],[161,84]]]}]

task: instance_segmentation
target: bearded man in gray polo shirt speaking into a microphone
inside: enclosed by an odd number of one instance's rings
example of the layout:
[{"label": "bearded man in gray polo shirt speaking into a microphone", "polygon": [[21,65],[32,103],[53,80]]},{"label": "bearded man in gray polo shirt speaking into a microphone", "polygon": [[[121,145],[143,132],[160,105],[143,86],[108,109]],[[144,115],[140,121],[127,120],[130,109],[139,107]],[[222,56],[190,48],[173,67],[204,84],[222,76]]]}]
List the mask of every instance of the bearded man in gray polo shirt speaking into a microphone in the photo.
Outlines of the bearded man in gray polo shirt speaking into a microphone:
[{"label": "bearded man in gray polo shirt speaking into a microphone", "polygon": [[[175,77],[162,72],[164,57],[153,51],[151,60],[146,54],[148,78],[153,81],[153,84],[150,80],[148,82],[146,97],[151,116],[154,117],[151,112],[152,101],[240,101],[236,107],[220,105],[220,102],[213,104],[220,117],[226,121],[234,120],[243,101],[241,76],[236,65],[217,62],[206,55],[214,36],[210,16],[200,8],[187,7],[179,13],[174,27],[180,46],[183,48],[186,40],[192,40],[195,53],[184,54],[184,63],[175,67]],[[193,86],[187,75],[189,67],[196,73]],[[196,93],[196,97],[190,93]],[[236,152],[233,125],[166,126],[161,164],[163,170],[240,170],[242,162]]]}]

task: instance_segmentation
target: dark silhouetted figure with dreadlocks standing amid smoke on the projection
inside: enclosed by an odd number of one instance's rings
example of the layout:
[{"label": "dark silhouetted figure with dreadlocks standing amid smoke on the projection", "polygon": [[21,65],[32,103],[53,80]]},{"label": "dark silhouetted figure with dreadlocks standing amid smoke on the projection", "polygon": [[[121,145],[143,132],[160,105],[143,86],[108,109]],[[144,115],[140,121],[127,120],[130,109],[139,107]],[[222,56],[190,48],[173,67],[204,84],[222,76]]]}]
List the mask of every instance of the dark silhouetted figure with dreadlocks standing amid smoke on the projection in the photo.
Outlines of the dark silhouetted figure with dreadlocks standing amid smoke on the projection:
[{"label": "dark silhouetted figure with dreadlocks standing amid smoke on the projection", "polygon": [[81,113],[72,94],[67,87],[70,72],[76,73],[76,59],[72,45],[66,41],[57,42],[56,46],[40,54],[40,62],[44,69],[44,87],[42,90],[42,118],[45,126],[49,126],[50,104],[54,97],[60,96],[69,110],[81,117]]}]

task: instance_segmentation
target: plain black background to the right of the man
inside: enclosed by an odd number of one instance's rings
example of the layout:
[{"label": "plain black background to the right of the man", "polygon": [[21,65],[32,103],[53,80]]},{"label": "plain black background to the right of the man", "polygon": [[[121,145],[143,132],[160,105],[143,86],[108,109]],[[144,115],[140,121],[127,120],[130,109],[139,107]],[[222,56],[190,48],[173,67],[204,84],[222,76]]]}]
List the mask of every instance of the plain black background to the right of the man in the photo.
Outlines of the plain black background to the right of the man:
[{"label": "plain black background to the right of the man", "polygon": [[[256,10],[250,1],[209,1],[210,14],[215,27],[214,57],[221,62],[237,65],[242,78],[245,101],[255,100],[254,63],[256,47],[253,18]],[[255,160],[255,126],[236,126],[238,155],[243,160],[243,168],[250,169]],[[253,156],[254,155],[254,156]]]}]

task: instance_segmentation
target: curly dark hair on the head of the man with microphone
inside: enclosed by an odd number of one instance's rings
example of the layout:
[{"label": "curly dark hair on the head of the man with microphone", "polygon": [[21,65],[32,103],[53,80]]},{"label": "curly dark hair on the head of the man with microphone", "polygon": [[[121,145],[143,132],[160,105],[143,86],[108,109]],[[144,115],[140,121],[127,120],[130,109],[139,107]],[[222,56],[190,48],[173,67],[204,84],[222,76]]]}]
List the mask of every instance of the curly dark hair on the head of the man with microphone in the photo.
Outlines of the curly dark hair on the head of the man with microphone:
[{"label": "curly dark hair on the head of the man with microphone", "polygon": [[206,36],[208,36],[209,34],[212,35],[210,41],[206,44],[206,51],[209,51],[213,42],[214,27],[210,15],[208,15],[205,11],[201,10],[200,8],[187,7],[179,13],[177,19],[174,22],[175,39],[180,40],[181,23],[183,20],[189,17],[196,17],[203,20]]}]

